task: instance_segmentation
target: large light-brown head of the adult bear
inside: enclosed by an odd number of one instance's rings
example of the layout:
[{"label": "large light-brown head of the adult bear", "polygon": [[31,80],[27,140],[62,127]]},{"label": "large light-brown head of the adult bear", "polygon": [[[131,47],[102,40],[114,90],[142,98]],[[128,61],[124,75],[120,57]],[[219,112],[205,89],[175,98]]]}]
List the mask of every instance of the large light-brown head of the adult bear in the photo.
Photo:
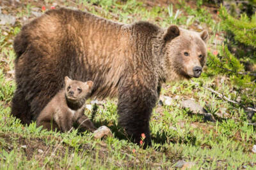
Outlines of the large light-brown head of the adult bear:
[{"label": "large light-brown head of the adult bear", "polygon": [[164,32],[167,80],[198,78],[207,57],[208,32],[195,32],[171,25]]}]

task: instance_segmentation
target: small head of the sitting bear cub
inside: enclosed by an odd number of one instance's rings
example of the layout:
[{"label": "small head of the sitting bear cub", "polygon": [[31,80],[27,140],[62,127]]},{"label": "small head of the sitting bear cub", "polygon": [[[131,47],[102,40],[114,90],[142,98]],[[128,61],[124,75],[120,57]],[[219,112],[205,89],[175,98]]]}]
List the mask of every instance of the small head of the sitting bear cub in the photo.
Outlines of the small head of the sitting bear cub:
[{"label": "small head of the sitting bear cub", "polygon": [[68,101],[81,101],[87,98],[93,87],[93,81],[76,81],[65,76],[65,96]]}]

